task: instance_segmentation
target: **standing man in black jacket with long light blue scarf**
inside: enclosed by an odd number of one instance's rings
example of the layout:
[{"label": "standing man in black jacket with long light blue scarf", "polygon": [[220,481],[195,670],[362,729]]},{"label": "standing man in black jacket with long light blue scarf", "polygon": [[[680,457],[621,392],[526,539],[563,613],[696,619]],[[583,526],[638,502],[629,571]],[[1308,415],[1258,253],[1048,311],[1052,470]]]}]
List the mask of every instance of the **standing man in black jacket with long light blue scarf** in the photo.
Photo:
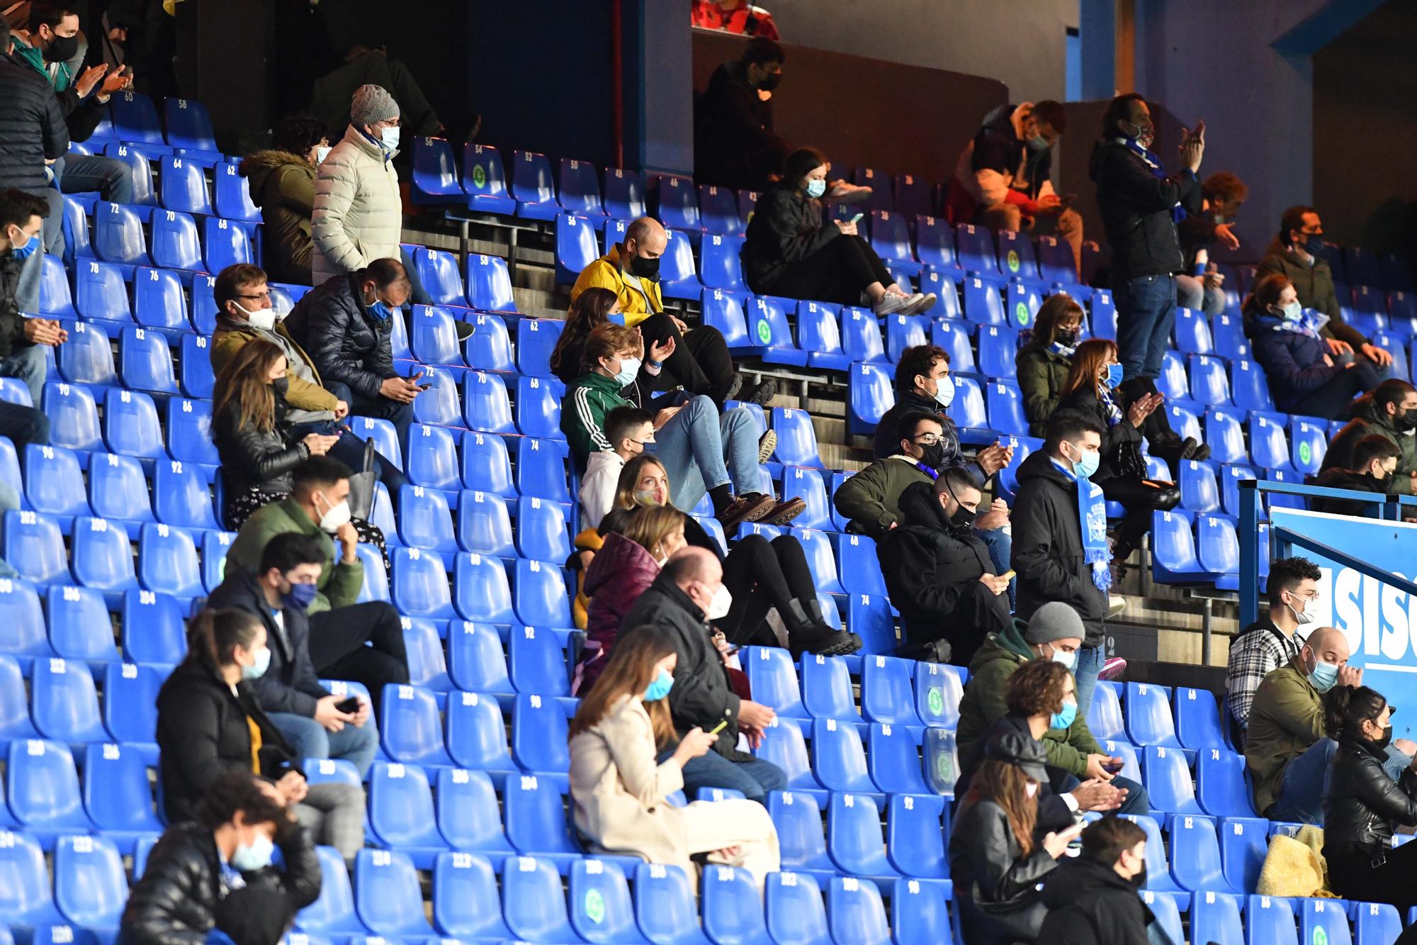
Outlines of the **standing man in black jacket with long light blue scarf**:
[{"label": "standing man in black jacket with long light blue scarf", "polygon": [[1078,650],[1077,704],[1085,719],[1097,674],[1107,660],[1102,621],[1108,616],[1107,509],[1102,488],[1090,481],[1101,461],[1102,424],[1078,410],[1049,417],[1043,448],[1019,465],[1013,499],[1019,573],[1016,616],[1032,620],[1050,600],[1077,610],[1087,631]]}]

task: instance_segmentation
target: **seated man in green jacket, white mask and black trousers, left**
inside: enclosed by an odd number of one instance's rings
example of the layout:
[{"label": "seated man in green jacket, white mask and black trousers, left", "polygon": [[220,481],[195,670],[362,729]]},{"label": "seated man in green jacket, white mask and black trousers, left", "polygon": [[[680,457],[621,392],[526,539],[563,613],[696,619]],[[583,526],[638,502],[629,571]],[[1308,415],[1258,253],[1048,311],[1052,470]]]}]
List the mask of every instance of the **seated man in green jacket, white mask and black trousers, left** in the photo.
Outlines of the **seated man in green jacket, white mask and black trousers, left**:
[{"label": "seated man in green jacket, white mask and black trousers, left", "polygon": [[[408,656],[398,612],[384,600],[357,603],[364,585],[360,535],[349,514],[350,468],[330,457],[306,460],[290,475],[290,495],[256,509],[227,549],[224,578],[261,566],[276,535],[298,532],[320,543],[319,593],[306,607],[310,661],[324,680],[351,680],[368,690],[376,717],[384,685],[408,682]],[[340,558],[334,559],[334,542]]]}]

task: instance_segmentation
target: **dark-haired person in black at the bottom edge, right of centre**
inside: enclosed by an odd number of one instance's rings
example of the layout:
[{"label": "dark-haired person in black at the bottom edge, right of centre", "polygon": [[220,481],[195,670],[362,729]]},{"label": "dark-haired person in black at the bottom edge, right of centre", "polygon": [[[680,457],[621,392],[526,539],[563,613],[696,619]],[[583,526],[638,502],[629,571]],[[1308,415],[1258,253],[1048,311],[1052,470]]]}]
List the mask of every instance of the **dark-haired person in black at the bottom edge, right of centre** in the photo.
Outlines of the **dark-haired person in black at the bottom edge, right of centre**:
[{"label": "dark-haired person in black at the bottom edge, right of centre", "polygon": [[1136,891],[1146,884],[1146,831],[1122,817],[1083,830],[1083,853],[1043,884],[1039,941],[1050,945],[1146,945],[1155,915]]}]

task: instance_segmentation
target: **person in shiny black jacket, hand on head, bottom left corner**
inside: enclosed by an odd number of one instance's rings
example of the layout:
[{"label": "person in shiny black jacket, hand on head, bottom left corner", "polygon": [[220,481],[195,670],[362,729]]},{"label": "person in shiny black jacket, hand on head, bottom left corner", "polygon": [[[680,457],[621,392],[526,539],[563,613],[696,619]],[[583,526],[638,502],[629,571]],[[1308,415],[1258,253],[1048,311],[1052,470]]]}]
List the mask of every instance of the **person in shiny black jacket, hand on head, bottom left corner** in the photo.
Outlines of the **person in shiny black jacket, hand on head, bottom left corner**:
[{"label": "person in shiny black jacket, hand on head, bottom left corner", "polygon": [[296,911],[319,898],[320,881],[310,836],[281,795],[234,768],[213,778],[193,817],[167,827],[147,854],[119,938],[276,942]]}]

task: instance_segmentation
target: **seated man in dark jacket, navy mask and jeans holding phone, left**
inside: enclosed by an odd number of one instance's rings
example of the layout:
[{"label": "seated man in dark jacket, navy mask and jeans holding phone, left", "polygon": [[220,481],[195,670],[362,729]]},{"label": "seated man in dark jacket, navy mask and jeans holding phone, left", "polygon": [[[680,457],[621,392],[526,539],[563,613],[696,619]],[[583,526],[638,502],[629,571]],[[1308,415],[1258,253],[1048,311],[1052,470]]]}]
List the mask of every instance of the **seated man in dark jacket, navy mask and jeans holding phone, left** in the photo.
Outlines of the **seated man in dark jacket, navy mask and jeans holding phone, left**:
[{"label": "seated man in dark jacket, navy mask and jeans holding phone, left", "polygon": [[256,700],[296,758],[343,758],[368,775],[378,752],[378,731],[368,724],[370,704],[340,709],[343,695],[330,695],[310,663],[310,619],[306,607],[319,593],[324,568],[320,543],[298,532],[272,538],[256,572],[238,572],[211,592],[207,606],[255,614],[266,631],[271,665],[252,681]]}]

